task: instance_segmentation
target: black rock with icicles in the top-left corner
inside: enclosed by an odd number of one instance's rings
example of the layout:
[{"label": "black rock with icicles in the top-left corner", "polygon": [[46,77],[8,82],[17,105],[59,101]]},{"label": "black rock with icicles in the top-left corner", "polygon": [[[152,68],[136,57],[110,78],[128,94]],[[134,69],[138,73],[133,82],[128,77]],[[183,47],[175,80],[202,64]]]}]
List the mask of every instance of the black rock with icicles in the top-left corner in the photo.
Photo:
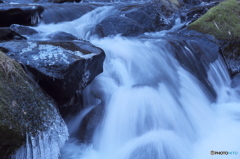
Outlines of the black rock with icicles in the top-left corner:
[{"label": "black rock with icicles in the top-left corner", "polygon": [[41,20],[44,8],[39,5],[4,4],[0,6],[0,27],[12,24],[37,25]]}]

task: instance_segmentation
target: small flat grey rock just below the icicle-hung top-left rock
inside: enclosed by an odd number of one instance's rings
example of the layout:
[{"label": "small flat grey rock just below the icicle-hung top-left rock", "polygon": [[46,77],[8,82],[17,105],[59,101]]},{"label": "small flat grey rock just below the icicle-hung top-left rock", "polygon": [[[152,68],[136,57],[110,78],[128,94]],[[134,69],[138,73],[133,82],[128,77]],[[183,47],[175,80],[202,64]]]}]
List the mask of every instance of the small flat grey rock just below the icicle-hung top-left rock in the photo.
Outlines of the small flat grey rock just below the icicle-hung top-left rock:
[{"label": "small flat grey rock just below the icicle-hung top-left rock", "polygon": [[20,34],[20,35],[33,35],[33,34],[37,34],[38,32],[28,26],[24,26],[24,25],[18,25],[18,24],[12,24],[10,26],[10,29],[12,29],[13,31],[15,31],[16,33]]}]

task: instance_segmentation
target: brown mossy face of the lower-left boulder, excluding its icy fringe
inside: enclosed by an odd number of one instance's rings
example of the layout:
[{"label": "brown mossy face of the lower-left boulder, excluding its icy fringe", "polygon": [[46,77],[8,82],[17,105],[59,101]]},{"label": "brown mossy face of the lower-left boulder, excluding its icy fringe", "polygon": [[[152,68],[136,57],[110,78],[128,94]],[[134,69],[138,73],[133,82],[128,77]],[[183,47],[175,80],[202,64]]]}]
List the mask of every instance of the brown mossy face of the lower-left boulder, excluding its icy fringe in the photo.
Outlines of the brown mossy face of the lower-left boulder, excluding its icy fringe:
[{"label": "brown mossy face of the lower-left boulder, excluding its icy fringe", "polygon": [[47,131],[56,118],[52,99],[0,51],[0,156],[5,158],[23,146],[26,134]]}]

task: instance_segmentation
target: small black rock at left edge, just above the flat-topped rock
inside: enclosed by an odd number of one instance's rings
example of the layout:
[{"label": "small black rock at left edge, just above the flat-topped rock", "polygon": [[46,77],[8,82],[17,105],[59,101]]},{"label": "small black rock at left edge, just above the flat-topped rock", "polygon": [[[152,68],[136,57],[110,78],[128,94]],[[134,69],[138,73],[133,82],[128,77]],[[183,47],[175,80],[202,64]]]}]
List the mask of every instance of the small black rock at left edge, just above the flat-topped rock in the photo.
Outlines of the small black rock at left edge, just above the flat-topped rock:
[{"label": "small black rock at left edge, just above the flat-topped rock", "polygon": [[0,41],[25,40],[26,38],[10,28],[0,28]]}]

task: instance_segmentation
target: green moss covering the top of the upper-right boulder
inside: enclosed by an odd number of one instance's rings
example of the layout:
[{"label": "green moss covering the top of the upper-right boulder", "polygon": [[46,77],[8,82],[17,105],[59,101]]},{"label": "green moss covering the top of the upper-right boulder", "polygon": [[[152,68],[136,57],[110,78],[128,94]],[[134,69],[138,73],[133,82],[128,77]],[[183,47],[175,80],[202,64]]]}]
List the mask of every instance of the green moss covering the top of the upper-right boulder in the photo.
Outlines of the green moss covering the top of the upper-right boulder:
[{"label": "green moss covering the top of the upper-right boulder", "polygon": [[220,40],[240,39],[240,2],[226,0],[188,26]]}]

